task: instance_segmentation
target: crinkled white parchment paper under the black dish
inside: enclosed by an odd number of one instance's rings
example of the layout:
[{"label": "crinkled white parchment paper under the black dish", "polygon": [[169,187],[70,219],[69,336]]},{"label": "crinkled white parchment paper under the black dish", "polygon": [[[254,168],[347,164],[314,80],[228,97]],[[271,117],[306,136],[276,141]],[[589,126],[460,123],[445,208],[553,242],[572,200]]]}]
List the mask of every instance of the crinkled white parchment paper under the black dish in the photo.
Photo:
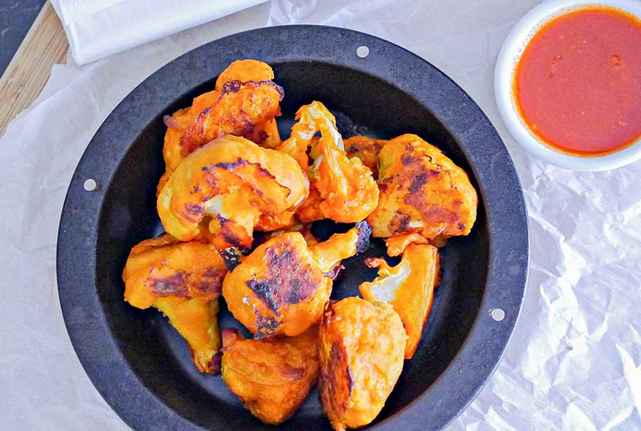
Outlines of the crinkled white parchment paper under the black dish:
[{"label": "crinkled white parchment paper under the black dish", "polygon": [[507,133],[494,104],[494,61],[535,4],[275,0],[87,66],[54,66],[0,140],[3,427],[127,430],[73,353],[55,277],[63,199],[100,123],[135,85],[202,43],[314,23],[386,38],[451,76],[498,128],[525,189],[523,311],[496,373],[448,430],[641,430],[641,162],[570,172],[528,157]]}]

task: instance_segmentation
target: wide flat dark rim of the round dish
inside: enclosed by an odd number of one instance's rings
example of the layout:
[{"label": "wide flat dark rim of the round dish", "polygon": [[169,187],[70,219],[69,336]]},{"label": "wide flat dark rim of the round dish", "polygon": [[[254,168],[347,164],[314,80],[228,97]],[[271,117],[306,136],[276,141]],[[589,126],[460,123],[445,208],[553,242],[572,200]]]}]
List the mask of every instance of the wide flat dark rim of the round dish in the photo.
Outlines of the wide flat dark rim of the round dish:
[{"label": "wide flat dark rim of the round dish", "polygon": [[[314,38],[323,43],[314,45]],[[285,43],[267,52],[261,45],[264,40]],[[288,49],[291,43],[298,43],[301,53],[293,56]],[[369,47],[367,57],[356,55],[359,46]],[[391,426],[425,430],[447,426],[494,373],[521,311],[529,261],[521,184],[499,133],[451,78],[405,48],[345,28],[273,26],[212,41],[174,59],[145,79],[100,126],[71,179],[61,214],[56,256],[63,318],[85,372],[108,405],[132,429],[207,429],[163,403],[127,363],[96,291],[95,247],[107,188],[104,185],[110,183],[131,142],[159,115],[162,118],[174,100],[198,85],[212,82],[227,64],[241,56],[274,64],[320,61],[368,73],[411,94],[432,111],[458,142],[464,142],[460,150],[479,184],[489,227],[489,263],[479,313],[462,346],[437,380],[410,404],[368,429],[385,430]],[[218,61],[211,61],[212,58]],[[392,64],[401,66],[390,67]],[[189,74],[177,73],[187,69]],[[92,192],[83,189],[88,178],[98,183]],[[491,318],[494,308],[505,311],[502,321]],[[105,363],[109,364],[108,373]],[[140,415],[143,408],[152,410],[153,417]]]}]

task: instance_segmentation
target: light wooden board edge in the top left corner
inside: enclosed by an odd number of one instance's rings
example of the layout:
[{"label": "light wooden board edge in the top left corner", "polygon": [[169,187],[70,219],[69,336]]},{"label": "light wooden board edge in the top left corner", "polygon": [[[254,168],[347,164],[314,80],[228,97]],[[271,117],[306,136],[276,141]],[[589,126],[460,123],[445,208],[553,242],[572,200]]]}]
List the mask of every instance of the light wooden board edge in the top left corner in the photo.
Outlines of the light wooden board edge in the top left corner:
[{"label": "light wooden board edge in the top left corner", "polygon": [[0,78],[0,136],[38,97],[51,66],[64,61],[68,47],[60,19],[47,1]]}]

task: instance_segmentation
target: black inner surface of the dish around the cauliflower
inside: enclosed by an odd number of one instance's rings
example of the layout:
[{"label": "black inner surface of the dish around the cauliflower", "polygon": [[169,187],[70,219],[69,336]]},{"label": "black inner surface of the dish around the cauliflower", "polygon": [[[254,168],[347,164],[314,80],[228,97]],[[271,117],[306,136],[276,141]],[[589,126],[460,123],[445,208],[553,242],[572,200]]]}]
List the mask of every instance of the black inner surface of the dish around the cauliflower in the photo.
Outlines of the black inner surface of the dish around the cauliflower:
[{"label": "black inner surface of the dish around the cauliflower", "polygon": [[[283,117],[279,119],[282,137],[288,135],[293,114],[301,105],[320,100],[336,114],[344,137],[365,134],[391,138],[416,133],[463,167],[478,189],[459,142],[411,94],[355,68],[309,61],[282,61],[271,66],[276,73],[275,81],[285,90]],[[316,389],[287,422],[279,427],[262,424],[244,409],[220,375],[197,372],[187,343],[158,311],[139,310],[123,301],[121,274],[131,247],[162,232],[155,200],[157,181],[164,171],[162,115],[190,105],[195,95],[213,88],[214,81],[212,77],[207,85],[193,88],[172,103],[167,112],[158,113],[132,142],[123,162],[103,186],[105,196],[95,247],[97,294],[130,368],[155,397],[186,420],[217,430],[330,430]],[[345,228],[328,222],[317,222],[314,227],[320,237]],[[344,262],[345,271],[334,283],[333,298],[357,295],[358,284],[376,276],[376,271],[368,269],[363,259],[385,256],[384,245],[376,240],[365,254]],[[489,264],[489,233],[482,199],[471,234],[449,240],[441,249],[441,257],[442,282],[422,342],[415,357],[405,362],[395,390],[373,423],[395,415],[424,393],[447,368],[470,331],[484,294]],[[222,328],[241,327],[227,311],[224,300],[221,302]]]}]

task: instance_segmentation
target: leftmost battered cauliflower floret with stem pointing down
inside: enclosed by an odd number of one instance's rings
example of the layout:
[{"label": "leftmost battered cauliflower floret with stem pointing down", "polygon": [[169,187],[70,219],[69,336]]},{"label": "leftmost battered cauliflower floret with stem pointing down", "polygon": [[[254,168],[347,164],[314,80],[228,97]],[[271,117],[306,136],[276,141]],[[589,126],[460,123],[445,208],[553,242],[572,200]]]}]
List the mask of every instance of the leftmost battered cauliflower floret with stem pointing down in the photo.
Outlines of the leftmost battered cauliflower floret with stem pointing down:
[{"label": "leftmost battered cauliflower floret with stem pointing down", "polygon": [[198,370],[217,373],[218,297],[226,272],[211,244],[178,242],[167,234],[147,239],[134,246],[127,259],[125,301],[162,311],[189,343]]}]

